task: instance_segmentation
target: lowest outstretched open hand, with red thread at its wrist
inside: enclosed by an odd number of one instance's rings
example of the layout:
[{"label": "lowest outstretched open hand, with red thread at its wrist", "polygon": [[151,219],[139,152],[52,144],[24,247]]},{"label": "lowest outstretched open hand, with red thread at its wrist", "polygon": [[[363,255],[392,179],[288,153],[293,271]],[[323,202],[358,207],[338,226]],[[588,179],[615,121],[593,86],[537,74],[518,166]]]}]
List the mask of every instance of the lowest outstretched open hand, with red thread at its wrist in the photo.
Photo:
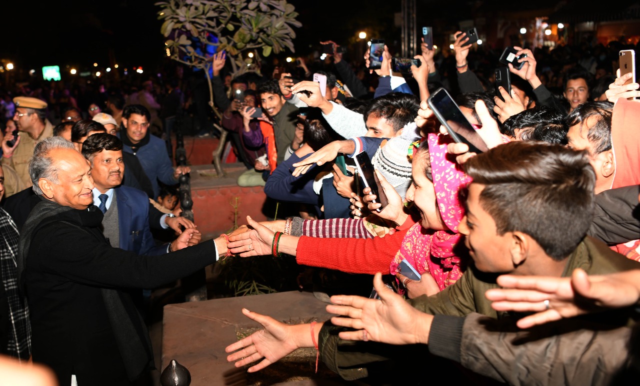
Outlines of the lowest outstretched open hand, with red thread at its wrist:
[{"label": "lowest outstretched open hand, with red thread at its wrist", "polygon": [[[310,330],[308,324],[285,325],[270,316],[253,313],[246,308],[243,308],[242,313],[247,318],[260,323],[263,329],[254,332],[241,341],[228,345],[225,351],[230,353],[239,350],[227,357],[228,362],[237,361],[236,367],[241,367],[264,358],[259,364],[249,367],[249,373],[260,371],[264,369],[264,367],[286,357],[297,348],[300,348],[298,346],[300,339],[295,335],[303,334],[303,332],[308,334]],[[316,328],[319,329],[319,327]]]}]

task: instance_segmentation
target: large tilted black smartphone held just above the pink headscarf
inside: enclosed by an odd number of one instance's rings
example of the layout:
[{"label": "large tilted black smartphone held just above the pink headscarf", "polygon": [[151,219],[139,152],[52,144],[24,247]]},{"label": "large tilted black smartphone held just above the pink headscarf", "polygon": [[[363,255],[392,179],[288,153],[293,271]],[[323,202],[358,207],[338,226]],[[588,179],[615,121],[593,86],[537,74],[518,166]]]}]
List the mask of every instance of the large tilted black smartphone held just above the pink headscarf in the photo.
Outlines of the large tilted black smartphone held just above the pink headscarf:
[{"label": "large tilted black smartphone held just above the pink headscarf", "polygon": [[447,90],[444,88],[437,89],[435,93],[429,96],[427,104],[440,123],[447,128],[447,132],[449,132],[454,141],[466,143],[469,146],[469,151],[474,153],[479,154],[489,150]]}]

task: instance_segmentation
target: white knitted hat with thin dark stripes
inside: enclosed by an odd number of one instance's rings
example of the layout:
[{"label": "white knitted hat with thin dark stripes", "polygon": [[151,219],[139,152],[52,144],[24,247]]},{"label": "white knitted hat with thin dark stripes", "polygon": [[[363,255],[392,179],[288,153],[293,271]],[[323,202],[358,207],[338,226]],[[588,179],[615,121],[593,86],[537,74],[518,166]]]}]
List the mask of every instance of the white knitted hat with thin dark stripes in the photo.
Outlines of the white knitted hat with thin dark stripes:
[{"label": "white knitted hat with thin dark stripes", "polygon": [[378,148],[371,164],[404,199],[411,184],[411,162],[407,154],[412,142],[420,139],[420,134],[415,122],[407,123],[402,130],[401,135],[389,139],[384,146]]}]

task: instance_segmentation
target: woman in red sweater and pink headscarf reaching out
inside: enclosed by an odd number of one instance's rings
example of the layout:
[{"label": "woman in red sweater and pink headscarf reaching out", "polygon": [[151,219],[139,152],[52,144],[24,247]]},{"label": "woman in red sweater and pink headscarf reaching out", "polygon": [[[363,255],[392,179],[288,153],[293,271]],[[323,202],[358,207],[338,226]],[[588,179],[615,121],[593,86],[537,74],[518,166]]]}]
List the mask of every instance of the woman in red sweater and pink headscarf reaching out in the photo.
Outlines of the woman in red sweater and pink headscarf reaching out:
[{"label": "woman in red sweater and pink headscarf reaching out", "polygon": [[[316,238],[280,235],[250,217],[253,229],[230,237],[231,252],[241,257],[284,253],[296,256],[301,265],[318,266],[354,274],[396,274],[397,264],[408,259],[420,272],[429,272],[421,289],[410,297],[433,294],[461,275],[460,258],[452,252],[458,242],[457,226],[463,217],[458,202],[460,187],[468,183],[465,174],[445,157],[448,137],[429,134],[413,157],[413,185],[406,194],[420,212],[421,220],[409,229],[374,238]],[[401,205],[400,197],[382,180],[389,206]],[[387,210],[385,208],[385,210]],[[433,280],[431,280],[433,277]],[[406,284],[411,282],[405,281]],[[418,285],[414,283],[413,285]]]}]

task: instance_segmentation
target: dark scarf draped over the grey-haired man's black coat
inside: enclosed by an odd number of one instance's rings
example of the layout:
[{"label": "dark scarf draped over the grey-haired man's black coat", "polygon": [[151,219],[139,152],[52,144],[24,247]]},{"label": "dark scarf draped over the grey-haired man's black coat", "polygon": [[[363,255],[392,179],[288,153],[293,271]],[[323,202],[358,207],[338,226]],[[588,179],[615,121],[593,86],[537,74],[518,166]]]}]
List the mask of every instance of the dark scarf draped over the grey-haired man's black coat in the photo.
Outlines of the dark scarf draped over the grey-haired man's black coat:
[{"label": "dark scarf draped over the grey-haired man's black coat", "polygon": [[[33,235],[35,235],[38,229],[52,222],[60,221],[75,226],[79,232],[86,232],[93,235],[92,232],[84,229],[83,226],[59,218],[61,213],[70,210],[74,209],[70,206],[61,206],[58,203],[42,198],[42,201],[31,210],[29,218],[22,228],[17,256],[18,284],[20,291],[25,293],[27,297],[29,294],[28,291],[25,291],[26,288],[24,287],[24,268],[26,266],[27,256],[29,255],[29,246],[33,240]],[[99,209],[96,206],[90,206],[89,210],[96,211]],[[101,214],[102,213],[100,213],[100,215]],[[109,242],[104,236],[102,236],[102,240],[104,240],[105,248],[111,248],[111,245],[109,245]],[[118,344],[118,350],[122,356],[127,376],[129,380],[136,380],[140,378],[142,374],[154,368],[153,350],[151,348],[147,327],[140,313],[135,309],[131,298],[128,297],[129,295],[117,289],[109,288],[100,288],[100,292],[102,293],[104,307],[107,309],[111,330],[113,330],[113,336]]]}]

